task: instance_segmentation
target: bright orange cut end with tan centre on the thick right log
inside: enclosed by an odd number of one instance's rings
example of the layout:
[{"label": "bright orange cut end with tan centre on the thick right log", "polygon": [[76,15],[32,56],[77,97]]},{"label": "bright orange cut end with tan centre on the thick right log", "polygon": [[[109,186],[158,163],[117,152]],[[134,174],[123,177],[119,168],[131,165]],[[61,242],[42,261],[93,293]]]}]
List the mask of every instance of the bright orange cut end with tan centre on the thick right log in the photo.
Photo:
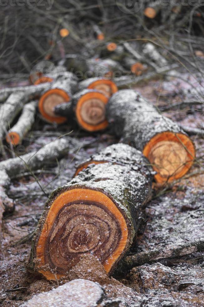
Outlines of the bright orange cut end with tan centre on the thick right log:
[{"label": "bright orange cut end with tan centre on the thick right log", "polygon": [[156,134],[145,145],[143,154],[157,172],[155,180],[164,183],[187,173],[195,159],[195,148],[187,135],[167,131]]}]

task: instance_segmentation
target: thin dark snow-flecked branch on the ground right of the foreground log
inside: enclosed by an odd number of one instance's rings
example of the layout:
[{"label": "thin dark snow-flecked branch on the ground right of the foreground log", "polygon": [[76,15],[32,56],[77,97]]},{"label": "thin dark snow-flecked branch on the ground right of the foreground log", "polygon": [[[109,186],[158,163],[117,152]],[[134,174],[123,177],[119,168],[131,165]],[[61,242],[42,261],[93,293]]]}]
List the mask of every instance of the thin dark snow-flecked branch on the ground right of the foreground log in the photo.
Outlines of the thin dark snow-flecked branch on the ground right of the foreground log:
[{"label": "thin dark snow-flecked branch on the ground right of the foreground log", "polygon": [[121,263],[121,270],[130,270],[133,267],[143,265],[145,263],[150,263],[154,261],[162,261],[167,259],[180,258],[194,252],[204,251],[204,238],[189,241],[181,245],[176,245],[173,247],[155,248],[150,251],[140,252],[135,255],[126,256]]}]

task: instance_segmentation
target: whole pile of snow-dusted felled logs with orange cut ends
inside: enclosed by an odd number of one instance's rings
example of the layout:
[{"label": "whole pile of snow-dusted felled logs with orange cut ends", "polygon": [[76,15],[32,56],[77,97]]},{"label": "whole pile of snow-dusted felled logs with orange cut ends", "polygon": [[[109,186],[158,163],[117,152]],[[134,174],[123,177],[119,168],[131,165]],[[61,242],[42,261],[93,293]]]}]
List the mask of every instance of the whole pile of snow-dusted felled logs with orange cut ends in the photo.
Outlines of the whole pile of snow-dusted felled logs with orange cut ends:
[{"label": "whole pile of snow-dusted felled logs with orange cut ends", "polygon": [[[109,126],[120,139],[118,144],[78,165],[74,178],[54,190],[46,202],[26,266],[28,271],[41,273],[47,279],[65,276],[85,253],[95,255],[111,274],[129,250],[143,221],[143,208],[151,198],[153,179],[160,184],[179,179],[195,158],[192,141],[175,122],[160,114],[138,92],[118,90],[117,78],[108,78],[121,67],[114,59],[104,57],[114,52],[119,59],[121,48],[131,55],[124,61],[129,70],[138,75],[147,69],[145,61],[139,62],[140,54],[129,44],[111,43],[104,48],[100,60],[89,62],[92,70],[96,66],[104,68],[99,77],[78,82],[72,72],[51,72],[40,75],[35,85],[0,93],[0,98],[6,99],[0,107],[0,139],[8,130],[6,141],[12,145],[21,143],[31,129],[37,105],[46,122],[73,123],[75,119],[88,132]],[[148,64],[155,68],[157,50],[146,44],[145,52],[152,55]],[[160,63],[168,66],[162,57]],[[58,158],[69,144],[70,139],[60,138],[34,157],[29,154],[22,160],[2,162],[2,211],[10,201],[5,191],[12,177],[9,165],[15,165],[17,171],[41,168],[43,159]],[[24,160],[27,164],[22,163]]]}]

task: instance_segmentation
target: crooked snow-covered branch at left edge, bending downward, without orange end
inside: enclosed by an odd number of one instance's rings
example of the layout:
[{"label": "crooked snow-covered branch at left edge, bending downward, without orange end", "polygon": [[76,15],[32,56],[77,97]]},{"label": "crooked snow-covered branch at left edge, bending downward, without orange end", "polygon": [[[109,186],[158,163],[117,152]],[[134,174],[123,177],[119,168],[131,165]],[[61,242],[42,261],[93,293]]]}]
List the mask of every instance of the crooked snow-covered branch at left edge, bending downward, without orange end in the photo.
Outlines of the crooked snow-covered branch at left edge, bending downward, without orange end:
[{"label": "crooked snow-covered branch at left edge, bending downward, without orange end", "polygon": [[15,207],[15,201],[9,198],[6,192],[11,179],[17,174],[41,169],[46,164],[59,159],[63,154],[67,153],[67,150],[73,145],[80,147],[75,139],[63,137],[48,143],[35,153],[27,153],[20,157],[0,162],[0,223],[3,213],[10,212]]}]

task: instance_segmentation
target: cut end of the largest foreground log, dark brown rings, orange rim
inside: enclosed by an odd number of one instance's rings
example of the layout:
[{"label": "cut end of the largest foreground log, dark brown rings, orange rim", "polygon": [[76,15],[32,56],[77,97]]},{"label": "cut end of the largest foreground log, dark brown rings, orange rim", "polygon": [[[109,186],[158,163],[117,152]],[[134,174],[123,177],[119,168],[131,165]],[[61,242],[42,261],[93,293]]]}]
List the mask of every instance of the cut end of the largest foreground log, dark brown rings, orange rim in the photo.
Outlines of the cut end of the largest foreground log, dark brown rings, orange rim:
[{"label": "cut end of the largest foreground log, dark brown rings, orange rim", "polygon": [[[36,266],[48,280],[65,276],[84,253],[91,252],[107,273],[129,242],[129,224],[109,195],[72,188],[50,206],[36,245]],[[49,269],[50,268],[50,269]]]}]

